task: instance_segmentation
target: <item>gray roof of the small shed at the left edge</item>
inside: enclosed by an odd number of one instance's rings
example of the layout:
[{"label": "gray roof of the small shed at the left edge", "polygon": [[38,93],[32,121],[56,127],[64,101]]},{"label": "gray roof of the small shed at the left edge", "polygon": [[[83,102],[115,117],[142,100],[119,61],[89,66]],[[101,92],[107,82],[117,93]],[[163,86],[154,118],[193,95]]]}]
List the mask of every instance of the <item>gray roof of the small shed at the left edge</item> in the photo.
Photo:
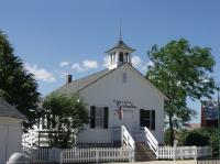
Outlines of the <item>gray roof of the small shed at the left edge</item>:
[{"label": "gray roof of the small shed at the left edge", "polygon": [[9,117],[15,119],[26,119],[19,110],[9,105],[3,98],[0,97],[0,117]]}]

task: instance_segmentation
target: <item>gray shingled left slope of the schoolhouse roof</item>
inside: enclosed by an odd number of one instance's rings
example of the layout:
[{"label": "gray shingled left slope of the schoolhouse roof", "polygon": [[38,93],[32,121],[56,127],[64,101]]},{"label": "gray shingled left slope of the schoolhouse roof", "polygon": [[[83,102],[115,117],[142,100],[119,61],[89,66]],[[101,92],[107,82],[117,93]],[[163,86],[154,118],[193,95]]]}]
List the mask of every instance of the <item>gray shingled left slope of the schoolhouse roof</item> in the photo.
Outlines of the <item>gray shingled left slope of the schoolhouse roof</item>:
[{"label": "gray shingled left slope of the schoolhouse roof", "polygon": [[103,76],[106,76],[107,74],[110,74],[113,70],[114,69],[111,69],[111,70],[105,69],[105,70],[98,72],[96,74],[86,76],[84,78],[73,80],[72,83],[66,84],[66,85],[62,86],[61,88],[54,90],[53,94],[70,95],[74,92],[78,92],[79,90],[86,88],[90,84],[95,83],[96,80],[102,78]]}]

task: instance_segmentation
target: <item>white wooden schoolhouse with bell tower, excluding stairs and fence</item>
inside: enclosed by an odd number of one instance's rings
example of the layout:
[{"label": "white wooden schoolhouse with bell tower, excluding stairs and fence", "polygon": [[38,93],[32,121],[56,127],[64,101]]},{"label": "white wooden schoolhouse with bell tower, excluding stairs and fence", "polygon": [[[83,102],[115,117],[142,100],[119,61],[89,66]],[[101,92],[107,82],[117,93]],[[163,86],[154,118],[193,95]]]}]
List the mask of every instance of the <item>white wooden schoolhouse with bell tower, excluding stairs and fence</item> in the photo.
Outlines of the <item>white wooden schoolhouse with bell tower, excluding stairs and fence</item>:
[{"label": "white wooden schoolhouse with bell tower, excluding stairs and fence", "polygon": [[131,63],[134,52],[121,39],[107,51],[109,66],[94,75],[72,80],[54,90],[62,95],[79,94],[88,105],[90,123],[79,133],[80,143],[112,143],[114,128],[124,125],[136,140],[146,127],[158,143],[164,142],[164,101],[166,97]]}]

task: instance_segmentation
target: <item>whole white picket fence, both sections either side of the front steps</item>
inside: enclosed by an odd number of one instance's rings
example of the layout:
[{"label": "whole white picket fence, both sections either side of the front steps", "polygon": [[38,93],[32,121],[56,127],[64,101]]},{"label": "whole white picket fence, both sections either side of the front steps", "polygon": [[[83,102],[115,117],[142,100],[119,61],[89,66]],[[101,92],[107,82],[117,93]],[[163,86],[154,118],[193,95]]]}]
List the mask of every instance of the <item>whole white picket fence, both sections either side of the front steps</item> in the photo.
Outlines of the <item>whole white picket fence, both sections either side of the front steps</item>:
[{"label": "whole white picket fence, both sections either side of the front steps", "polygon": [[[34,162],[89,163],[133,162],[134,149],[123,147],[23,147]],[[161,160],[198,158],[211,156],[210,146],[158,146],[156,157]]]}]

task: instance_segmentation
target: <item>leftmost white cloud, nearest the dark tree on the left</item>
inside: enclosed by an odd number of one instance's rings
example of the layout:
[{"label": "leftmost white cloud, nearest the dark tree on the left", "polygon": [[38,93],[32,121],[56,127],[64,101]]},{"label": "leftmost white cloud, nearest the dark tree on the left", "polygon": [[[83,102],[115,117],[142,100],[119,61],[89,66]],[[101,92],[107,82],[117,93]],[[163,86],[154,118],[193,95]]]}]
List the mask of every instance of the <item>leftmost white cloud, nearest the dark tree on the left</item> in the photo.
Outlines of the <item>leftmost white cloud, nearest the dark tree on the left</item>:
[{"label": "leftmost white cloud, nearest the dark tree on the left", "polygon": [[53,83],[56,80],[55,77],[51,73],[48,73],[44,68],[38,68],[36,64],[31,65],[29,63],[25,63],[24,67],[28,72],[32,73],[36,79],[48,81],[48,83]]}]

